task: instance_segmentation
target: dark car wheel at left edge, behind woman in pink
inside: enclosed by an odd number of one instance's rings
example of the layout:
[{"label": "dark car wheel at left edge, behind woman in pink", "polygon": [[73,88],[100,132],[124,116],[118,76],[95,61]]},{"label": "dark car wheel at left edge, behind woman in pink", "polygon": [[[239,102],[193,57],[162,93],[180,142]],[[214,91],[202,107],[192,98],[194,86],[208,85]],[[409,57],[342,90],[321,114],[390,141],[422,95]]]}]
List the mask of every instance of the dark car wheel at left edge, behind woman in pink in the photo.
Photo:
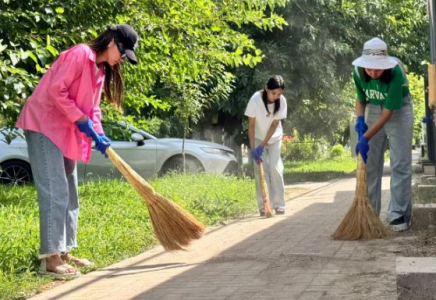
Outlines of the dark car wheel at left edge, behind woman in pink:
[{"label": "dark car wheel at left edge, behind woman in pink", "polygon": [[1,184],[22,185],[32,181],[32,170],[27,162],[11,160],[0,165]]}]

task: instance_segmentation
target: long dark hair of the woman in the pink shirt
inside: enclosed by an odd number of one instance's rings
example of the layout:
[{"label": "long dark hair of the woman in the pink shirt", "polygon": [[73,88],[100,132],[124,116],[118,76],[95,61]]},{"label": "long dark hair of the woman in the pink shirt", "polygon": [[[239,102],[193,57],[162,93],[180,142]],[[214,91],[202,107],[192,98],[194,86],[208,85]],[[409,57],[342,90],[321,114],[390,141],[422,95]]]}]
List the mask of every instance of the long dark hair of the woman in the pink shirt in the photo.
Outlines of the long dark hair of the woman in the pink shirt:
[{"label": "long dark hair of the woman in the pink shirt", "polygon": [[[88,46],[99,55],[107,49],[107,46],[112,39],[115,39],[116,41],[116,35],[112,30],[107,29],[96,39],[89,42]],[[117,109],[121,109],[124,94],[124,82],[120,64],[116,64],[113,67],[111,67],[107,62],[104,62],[103,64],[105,70],[104,94],[112,105]]]}]

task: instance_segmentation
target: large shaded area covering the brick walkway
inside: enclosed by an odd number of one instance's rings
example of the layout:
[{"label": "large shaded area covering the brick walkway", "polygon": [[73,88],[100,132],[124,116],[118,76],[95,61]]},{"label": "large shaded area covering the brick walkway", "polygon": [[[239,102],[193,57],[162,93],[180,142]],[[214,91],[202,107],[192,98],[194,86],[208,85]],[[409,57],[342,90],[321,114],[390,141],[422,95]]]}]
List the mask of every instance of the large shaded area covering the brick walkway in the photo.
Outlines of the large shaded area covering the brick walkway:
[{"label": "large shaded area covering the brick walkway", "polygon": [[396,299],[389,241],[333,240],[354,191],[323,190],[300,199],[316,203],[132,299]]}]

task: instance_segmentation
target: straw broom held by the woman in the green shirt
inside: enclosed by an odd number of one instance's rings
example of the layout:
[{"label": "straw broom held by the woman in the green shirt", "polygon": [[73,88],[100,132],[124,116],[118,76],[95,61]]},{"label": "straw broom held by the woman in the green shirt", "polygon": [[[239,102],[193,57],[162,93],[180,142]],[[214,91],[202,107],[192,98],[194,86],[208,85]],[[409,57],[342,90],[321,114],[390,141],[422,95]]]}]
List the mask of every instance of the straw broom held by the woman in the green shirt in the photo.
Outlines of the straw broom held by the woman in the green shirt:
[{"label": "straw broom held by the woman in the green shirt", "polygon": [[374,211],[366,184],[366,170],[360,154],[357,162],[356,193],[350,209],[333,234],[336,240],[381,239],[386,229]]}]

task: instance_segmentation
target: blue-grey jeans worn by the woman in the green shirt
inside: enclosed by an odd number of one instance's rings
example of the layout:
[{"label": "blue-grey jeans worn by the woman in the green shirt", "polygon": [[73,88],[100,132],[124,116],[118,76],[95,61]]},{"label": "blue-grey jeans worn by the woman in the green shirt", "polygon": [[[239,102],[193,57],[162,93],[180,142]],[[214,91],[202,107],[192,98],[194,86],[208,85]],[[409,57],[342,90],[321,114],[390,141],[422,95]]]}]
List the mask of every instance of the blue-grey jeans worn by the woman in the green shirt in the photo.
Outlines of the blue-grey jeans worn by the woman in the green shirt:
[{"label": "blue-grey jeans worn by the woman in the green shirt", "polygon": [[[371,127],[381,116],[379,105],[367,104],[365,118]],[[391,164],[391,200],[388,219],[393,221],[404,216],[409,222],[412,213],[412,137],[413,110],[409,96],[403,99],[403,107],[394,111],[384,127],[369,140],[366,163],[368,196],[380,215],[381,179],[383,176],[384,152],[389,139]]]}]

